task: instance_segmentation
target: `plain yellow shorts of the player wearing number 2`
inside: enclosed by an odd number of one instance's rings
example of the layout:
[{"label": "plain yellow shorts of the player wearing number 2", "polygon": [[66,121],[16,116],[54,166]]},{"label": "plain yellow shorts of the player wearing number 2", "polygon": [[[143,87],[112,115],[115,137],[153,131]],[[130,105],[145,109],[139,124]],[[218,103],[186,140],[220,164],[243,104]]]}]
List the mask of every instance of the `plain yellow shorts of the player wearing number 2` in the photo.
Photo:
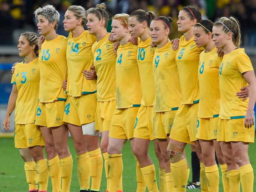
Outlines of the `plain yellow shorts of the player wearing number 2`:
[{"label": "plain yellow shorts of the player wearing number 2", "polygon": [[95,129],[109,131],[111,119],[116,107],[116,100],[108,102],[97,102],[95,114]]}]

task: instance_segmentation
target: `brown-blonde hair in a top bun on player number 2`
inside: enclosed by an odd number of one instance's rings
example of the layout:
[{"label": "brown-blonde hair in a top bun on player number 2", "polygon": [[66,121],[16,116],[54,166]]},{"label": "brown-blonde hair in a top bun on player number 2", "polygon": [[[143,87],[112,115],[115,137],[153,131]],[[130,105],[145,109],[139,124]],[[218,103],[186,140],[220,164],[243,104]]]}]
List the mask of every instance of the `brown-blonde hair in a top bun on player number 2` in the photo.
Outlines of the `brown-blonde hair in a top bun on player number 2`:
[{"label": "brown-blonde hair in a top bun on player number 2", "polygon": [[105,28],[108,26],[108,20],[109,20],[109,13],[106,10],[107,6],[104,3],[97,4],[96,7],[91,7],[87,10],[87,14],[93,13],[96,15],[96,17],[101,20],[104,19],[105,22]]}]

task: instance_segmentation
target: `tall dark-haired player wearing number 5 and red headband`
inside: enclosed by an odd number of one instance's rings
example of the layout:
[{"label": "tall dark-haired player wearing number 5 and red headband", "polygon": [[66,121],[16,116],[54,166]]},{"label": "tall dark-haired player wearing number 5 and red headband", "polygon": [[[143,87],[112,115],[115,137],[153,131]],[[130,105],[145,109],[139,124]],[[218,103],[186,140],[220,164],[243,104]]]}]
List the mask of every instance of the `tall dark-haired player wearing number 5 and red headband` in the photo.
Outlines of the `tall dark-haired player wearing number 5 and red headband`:
[{"label": "tall dark-haired player wearing number 5 and red headband", "polygon": [[[178,31],[184,33],[180,38],[179,50],[176,55],[182,100],[173,122],[167,150],[170,155],[173,185],[179,192],[186,191],[187,185],[188,169],[183,151],[187,143],[197,140],[199,102],[197,70],[202,48],[197,48],[193,41],[193,28],[200,20],[201,13],[193,6],[183,7],[177,20]],[[198,141],[196,146],[199,146]],[[200,159],[199,156],[198,158]]]}]

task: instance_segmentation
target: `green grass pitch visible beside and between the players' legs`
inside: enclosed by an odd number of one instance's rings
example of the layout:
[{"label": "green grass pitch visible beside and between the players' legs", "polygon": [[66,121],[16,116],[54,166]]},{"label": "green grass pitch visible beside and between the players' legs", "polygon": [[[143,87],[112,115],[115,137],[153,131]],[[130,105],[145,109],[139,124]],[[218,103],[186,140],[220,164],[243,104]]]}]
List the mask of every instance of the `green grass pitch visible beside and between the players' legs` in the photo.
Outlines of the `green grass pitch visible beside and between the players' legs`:
[{"label": "green grass pitch visible beside and between the players' legs", "polygon": [[[69,140],[70,152],[73,156],[73,172],[70,192],[79,192],[79,184],[76,171],[76,159],[75,151],[72,144],[72,140]],[[249,148],[249,155],[252,167],[256,170],[256,144],[251,144]],[[158,170],[158,162],[154,153],[154,144],[150,144],[150,157],[152,158],[156,170]],[[187,159],[190,162],[190,148],[186,148]],[[26,183],[26,177],[24,172],[24,162],[19,155],[19,150],[14,148],[13,138],[0,138],[0,192],[26,192],[28,191],[28,185]],[[123,152],[123,189],[124,192],[135,192],[136,191],[136,177],[135,177],[135,160],[132,154],[129,142],[126,142]],[[106,191],[105,171],[102,172],[102,183],[100,190]],[[158,178],[158,171],[157,171]],[[191,180],[191,172],[189,180]],[[254,179],[255,180],[255,179]],[[223,192],[222,183],[220,180],[220,190]],[[48,192],[52,191],[52,186],[49,179]],[[188,192],[200,190],[187,190]]]}]

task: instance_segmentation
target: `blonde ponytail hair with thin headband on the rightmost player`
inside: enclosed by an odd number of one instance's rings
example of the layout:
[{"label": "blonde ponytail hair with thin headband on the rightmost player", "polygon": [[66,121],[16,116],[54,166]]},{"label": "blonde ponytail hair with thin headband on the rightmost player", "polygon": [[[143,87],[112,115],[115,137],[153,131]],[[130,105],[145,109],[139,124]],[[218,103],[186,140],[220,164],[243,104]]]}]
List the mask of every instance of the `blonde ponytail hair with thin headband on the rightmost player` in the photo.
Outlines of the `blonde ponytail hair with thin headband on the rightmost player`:
[{"label": "blonde ponytail hair with thin headband on the rightmost player", "polygon": [[214,23],[214,26],[222,27],[222,30],[225,33],[232,33],[232,42],[234,45],[239,48],[242,44],[241,40],[241,31],[239,21],[234,17],[221,17],[217,22]]}]

